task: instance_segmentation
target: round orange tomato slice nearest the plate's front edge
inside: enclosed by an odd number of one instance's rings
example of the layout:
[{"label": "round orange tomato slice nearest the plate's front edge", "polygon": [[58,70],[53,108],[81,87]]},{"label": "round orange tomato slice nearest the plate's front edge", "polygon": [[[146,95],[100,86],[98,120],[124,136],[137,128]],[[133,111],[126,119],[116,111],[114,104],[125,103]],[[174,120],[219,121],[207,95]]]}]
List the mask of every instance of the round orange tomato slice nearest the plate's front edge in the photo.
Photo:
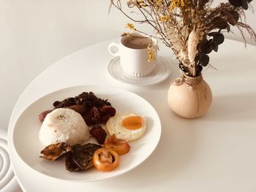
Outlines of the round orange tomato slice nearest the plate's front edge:
[{"label": "round orange tomato slice nearest the plate's front edge", "polygon": [[94,152],[93,164],[99,171],[110,172],[119,164],[118,153],[112,149],[99,148]]}]

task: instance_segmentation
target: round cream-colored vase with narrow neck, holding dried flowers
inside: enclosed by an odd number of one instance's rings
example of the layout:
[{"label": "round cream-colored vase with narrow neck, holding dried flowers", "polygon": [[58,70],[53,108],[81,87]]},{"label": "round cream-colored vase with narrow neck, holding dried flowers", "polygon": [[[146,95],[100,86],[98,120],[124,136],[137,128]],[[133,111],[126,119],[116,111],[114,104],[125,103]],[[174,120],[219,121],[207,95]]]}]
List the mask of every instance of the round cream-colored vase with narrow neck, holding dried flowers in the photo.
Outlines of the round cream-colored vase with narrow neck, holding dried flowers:
[{"label": "round cream-colored vase with narrow neck, holding dried flowers", "polygon": [[173,112],[183,118],[199,118],[211,106],[211,88],[202,75],[189,77],[183,74],[174,80],[168,90],[168,103]]}]

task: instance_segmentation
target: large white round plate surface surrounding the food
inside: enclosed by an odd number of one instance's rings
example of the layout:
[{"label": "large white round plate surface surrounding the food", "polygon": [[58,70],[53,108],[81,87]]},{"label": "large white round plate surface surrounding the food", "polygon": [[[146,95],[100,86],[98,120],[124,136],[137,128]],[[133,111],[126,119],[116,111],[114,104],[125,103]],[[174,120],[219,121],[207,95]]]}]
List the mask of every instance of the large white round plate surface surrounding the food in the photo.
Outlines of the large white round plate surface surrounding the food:
[{"label": "large white round plate surface surrounding the food", "polygon": [[[111,172],[99,172],[94,168],[84,172],[69,172],[65,169],[64,158],[58,161],[47,161],[39,158],[39,153],[45,146],[42,145],[38,137],[42,124],[38,120],[38,114],[53,109],[54,101],[60,101],[89,91],[94,92],[101,99],[108,99],[118,113],[135,113],[146,118],[146,134],[135,142],[129,142],[131,146],[129,153],[121,155],[119,166]],[[161,123],[159,116],[148,101],[129,91],[99,85],[64,88],[43,96],[24,110],[12,131],[15,152],[27,166],[39,174],[77,182],[103,180],[128,172],[151,155],[157,147],[160,135]]]}]

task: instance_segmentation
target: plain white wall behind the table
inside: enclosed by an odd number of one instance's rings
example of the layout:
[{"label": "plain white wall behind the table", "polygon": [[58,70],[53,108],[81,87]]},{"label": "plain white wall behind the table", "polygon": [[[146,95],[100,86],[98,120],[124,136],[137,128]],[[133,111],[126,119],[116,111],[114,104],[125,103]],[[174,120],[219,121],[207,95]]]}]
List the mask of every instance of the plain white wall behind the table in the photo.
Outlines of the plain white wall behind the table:
[{"label": "plain white wall behind the table", "polygon": [[[255,0],[252,5],[256,10]],[[18,96],[37,74],[69,53],[124,31],[127,18],[116,9],[108,15],[108,7],[109,0],[0,1],[0,128],[7,128]],[[249,10],[246,22],[256,30]],[[228,37],[241,40],[234,32]]]}]

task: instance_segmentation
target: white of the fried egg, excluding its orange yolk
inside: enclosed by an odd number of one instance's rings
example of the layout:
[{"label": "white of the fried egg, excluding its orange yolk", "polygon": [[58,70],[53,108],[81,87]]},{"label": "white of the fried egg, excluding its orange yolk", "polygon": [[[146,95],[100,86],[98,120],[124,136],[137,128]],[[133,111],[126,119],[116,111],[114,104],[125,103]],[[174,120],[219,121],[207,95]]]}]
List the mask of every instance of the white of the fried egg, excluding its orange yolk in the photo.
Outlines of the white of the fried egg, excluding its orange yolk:
[{"label": "white of the fried egg, excluding its orange yolk", "polygon": [[128,128],[125,128],[122,126],[122,120],[124,118],[127,118],[129,116],[137,116],[135,114],[129,114],[129,115],[121,115],[116,114],[115,116],[111,117],[108,122],[106,123],[106,128],[108,130],[108,133],[110,135],[116,134],[117,139],[123,139],[125,141],[134,141],[136,139],[139,139],[143,136],[146,132],[146,120],[145,118],[141,117],[143,119],[142,126],[135,130],[130,130]]}]

